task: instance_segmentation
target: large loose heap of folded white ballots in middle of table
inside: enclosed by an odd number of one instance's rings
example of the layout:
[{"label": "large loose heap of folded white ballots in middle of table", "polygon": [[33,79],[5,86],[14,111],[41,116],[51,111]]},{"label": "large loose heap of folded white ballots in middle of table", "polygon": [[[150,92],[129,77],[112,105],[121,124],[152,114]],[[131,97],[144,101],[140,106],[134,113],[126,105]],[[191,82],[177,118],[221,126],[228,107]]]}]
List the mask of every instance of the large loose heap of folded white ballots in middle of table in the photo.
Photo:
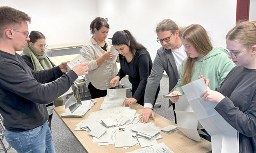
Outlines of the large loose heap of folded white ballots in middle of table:
[{"label": "large loose heap of folded white ballots in middle of table", "polygon": [[[158,144],[156,140],[163,138],[161,128],[152,122],[139,122],[139,115],[129,107],[106,108],[92,112],[76,125],[75,130],[88,131],[92,143],[98,143],[98,146],[114,144],[127,149],[139,144],[141,147]],[[123,131],[119,132],[119,129]]]}]

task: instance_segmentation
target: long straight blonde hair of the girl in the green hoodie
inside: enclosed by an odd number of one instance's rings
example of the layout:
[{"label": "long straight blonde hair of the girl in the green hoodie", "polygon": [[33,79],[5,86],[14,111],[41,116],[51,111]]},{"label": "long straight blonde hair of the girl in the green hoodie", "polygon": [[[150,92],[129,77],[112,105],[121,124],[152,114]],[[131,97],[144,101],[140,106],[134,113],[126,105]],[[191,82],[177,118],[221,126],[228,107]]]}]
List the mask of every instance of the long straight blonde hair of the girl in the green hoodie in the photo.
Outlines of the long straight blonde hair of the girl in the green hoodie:
[{"label": "long straight blonde hair of the girl in the green hoodie", "polygon": [[[207,32],[203,26],[199,24],[191,24],[187,26],[182,33],[181,38],[185,39],[196,49],[200,55],[207,55],[212,49],[212,44]],[[196,58],[187,57],[183,73],[183,85],[191,82],[191,78],[194,74],[194,64]]]}]

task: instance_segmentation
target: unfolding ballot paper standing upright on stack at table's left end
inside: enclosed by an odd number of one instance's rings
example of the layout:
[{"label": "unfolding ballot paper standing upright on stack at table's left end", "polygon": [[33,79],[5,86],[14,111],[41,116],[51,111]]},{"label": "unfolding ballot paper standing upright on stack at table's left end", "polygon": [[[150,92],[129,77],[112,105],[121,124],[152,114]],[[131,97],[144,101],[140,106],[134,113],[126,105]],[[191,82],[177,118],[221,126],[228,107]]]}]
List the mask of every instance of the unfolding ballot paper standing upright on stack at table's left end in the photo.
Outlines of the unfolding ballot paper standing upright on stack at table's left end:
[{"label": "unfolding ballot paper standing upright on stack at table's left end", "polygon": [[67,99],[65,103],[65,109],[69,108],[71,113],[73,113],[80,105],[82,105],[82,103],[81,103],[78,87],[73,84],[71,88],[72,88],[73,94]]}]

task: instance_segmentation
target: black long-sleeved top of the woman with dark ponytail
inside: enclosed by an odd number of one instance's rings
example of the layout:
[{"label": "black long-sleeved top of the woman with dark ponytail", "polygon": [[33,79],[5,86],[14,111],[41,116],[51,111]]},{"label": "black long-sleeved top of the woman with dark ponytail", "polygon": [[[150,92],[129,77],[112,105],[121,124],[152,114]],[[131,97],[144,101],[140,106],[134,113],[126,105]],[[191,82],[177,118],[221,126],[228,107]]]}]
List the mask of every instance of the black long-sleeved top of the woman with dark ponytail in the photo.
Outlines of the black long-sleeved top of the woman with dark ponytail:
[{"label": "black long-sleeved top of the woman with dark ponytail", "polygon": [[147,85],[147,78],[152,69],[152,60],[147,50],[136,50],[134,60],[130,63],[127,62],[125,57],[118,55],[120,59],[120,70],[117,76],[122,79],[125,75],[129,76],[129,81],[132,84],[132,90],[136,90],[133,94],[133,98],[137,101],[145,92]]}]

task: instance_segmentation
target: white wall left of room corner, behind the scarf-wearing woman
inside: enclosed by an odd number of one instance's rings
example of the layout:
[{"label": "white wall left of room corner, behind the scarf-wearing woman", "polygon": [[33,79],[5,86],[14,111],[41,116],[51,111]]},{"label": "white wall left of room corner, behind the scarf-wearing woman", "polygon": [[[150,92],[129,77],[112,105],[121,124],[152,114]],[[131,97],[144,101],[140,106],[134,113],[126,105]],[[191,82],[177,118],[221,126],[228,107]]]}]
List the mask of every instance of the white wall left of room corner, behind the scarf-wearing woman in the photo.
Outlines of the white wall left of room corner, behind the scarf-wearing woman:
[{"label": "white wall left of room corner, behind the scarf-wearing woman", "polygon": [[29,31],[40,31],[49,46],[87,42],[89,25],[97,17],[96,0],[0,0],[31,17]]}]

